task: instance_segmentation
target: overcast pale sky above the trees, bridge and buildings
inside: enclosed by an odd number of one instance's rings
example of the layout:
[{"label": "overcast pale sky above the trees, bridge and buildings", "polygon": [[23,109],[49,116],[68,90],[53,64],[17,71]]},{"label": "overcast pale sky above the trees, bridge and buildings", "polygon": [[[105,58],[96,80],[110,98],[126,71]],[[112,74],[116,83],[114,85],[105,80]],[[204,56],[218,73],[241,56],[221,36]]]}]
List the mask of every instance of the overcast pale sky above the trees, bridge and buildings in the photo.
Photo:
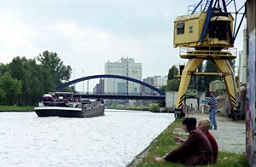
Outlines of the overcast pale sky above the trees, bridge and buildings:
[{"label": "overcast pale sky above the trees, bridge and buildings", "polygon": [[[143,63],[143,78],[183,64],[173,21],[199,0],[8,0],[0,5],[0,63],[56,52],[75,78],[104,73],[122,57]],[[243,23],[242,28],[245,25]],[[242,36],[235,47],[242,49]]]}]

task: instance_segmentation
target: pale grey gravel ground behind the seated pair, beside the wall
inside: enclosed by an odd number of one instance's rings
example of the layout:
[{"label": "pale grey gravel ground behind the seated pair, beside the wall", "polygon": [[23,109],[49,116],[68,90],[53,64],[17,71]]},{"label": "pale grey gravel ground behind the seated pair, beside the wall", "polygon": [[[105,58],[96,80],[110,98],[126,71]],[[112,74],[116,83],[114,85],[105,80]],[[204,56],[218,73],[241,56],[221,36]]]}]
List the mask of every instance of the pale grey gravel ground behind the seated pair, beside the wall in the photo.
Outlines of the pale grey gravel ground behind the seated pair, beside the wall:
[{"label": "pale grey gravel ground behind the seated pair, beside the wall", "polygon": [[[187,117],[209,118],[208,114],[189,113]],[[232,118],[217,118],[218,130],[210,130],[218,142],[218,150],[228,153],[246,152],[246,125],[245,121]]]}]

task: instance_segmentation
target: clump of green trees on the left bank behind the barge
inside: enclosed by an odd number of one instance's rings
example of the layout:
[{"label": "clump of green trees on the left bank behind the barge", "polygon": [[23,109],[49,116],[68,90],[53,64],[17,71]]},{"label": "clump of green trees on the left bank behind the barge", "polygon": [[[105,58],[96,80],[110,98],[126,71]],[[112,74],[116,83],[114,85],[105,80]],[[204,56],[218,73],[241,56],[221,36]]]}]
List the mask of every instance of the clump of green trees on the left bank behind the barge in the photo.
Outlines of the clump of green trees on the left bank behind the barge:
[{"label": "clump of green trees on the left bank behind the barge", "polygon": [[9,64],[0,64],[0,105],[35,106],[44,93],[67,82],[71,73],[71,66],[48,50],[33,59],[16,56]]}]

